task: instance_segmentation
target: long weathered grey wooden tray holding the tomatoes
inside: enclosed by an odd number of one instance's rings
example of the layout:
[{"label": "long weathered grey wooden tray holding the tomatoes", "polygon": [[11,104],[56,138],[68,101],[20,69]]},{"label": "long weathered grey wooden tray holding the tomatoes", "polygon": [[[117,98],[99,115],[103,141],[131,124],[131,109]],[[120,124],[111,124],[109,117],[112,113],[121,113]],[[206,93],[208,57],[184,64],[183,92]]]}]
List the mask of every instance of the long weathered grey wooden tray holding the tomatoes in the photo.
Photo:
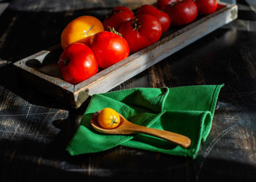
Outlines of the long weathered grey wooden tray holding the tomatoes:
[{"label": "long weathered grey wooden tray holding the tomatoes", "polygon": [[183,28],[168,31],[157,43],[129,55],[128,58],[76,85],[61,79],[57,65],[62,52],[59,45],[37,52],[19,60],[14,65],[18,67],[23,79],[29,84],[48,95],[59,98],[61,102],[72,108],[79,108],[90,95],[108,92],[193,41],[230,23],[237,18],[237,15],[238,7],[235,4],[225,4],[225,7],[214,14],[200,17]]}]

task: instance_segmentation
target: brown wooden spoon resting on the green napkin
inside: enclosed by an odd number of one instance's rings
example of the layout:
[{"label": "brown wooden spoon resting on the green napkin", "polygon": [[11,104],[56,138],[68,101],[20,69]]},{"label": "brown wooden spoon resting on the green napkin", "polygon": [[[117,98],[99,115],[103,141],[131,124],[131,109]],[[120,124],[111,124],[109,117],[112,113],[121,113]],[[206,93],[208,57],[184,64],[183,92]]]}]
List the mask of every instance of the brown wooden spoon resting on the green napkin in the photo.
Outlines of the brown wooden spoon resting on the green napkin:
[{"label": "brown wooden spoon resting on the green napkin", "polygon": [[187,136],[180,135],[175,132],[168,132],[165,130],[158,130],[150,127],[143,127],[138,124],[133,124],[132,122],[127,121],[121,114],[120,116],[120,124],[118,127],[113,129],[105,129],[99,126],[97,119],[98,119],[99,111],[91,116],[91,126],[94,130],[98,132],[106,133],[106,134],[115,134],[115,135],[127,135],[127,134],[134,134],[134,133],[143,133],[146,135],[153,135],[172,143],[176,143],[179,146],[184,148],[188,148],[190,146],[190,139]]}]

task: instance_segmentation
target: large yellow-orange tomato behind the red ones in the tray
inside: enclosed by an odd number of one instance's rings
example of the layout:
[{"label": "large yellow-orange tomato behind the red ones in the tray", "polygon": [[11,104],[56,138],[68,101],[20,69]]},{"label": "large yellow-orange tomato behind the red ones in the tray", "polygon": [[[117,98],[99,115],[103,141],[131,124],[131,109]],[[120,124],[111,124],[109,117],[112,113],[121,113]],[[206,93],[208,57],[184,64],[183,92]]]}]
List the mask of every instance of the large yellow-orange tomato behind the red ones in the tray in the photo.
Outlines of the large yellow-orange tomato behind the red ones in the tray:
[{"label": "large yellow-orange tomato behind the red ones in the tray", "polygon": [[61,33],[61,47],[65,49],[69,44],[80,42],[89,44],[90,36],[104,31],[102,23],[92,16],[80,16],[72,20]]}]

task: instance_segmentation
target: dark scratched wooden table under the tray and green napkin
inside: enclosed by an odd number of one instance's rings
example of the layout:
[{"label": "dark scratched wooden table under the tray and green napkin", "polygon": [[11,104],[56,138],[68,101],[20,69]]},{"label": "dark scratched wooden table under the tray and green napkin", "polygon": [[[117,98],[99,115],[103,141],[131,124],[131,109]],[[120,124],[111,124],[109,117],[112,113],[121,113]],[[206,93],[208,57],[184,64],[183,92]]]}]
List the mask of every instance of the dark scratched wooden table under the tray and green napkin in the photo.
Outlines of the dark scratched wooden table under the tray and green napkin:
[{"label": "dark scratched wooden table under the tray and green napkin", "polygon": [[79,15],[102,20],[116,5],[154,1],[8,2],[0,16],[0,181],[256,181],[256,14],[245,1],[238,20],[113,89],[224,83],[195,160],[121,146],[70,157],[64,147],[86,103],[71,110],[24,84],[12,66],[59,44]]}]

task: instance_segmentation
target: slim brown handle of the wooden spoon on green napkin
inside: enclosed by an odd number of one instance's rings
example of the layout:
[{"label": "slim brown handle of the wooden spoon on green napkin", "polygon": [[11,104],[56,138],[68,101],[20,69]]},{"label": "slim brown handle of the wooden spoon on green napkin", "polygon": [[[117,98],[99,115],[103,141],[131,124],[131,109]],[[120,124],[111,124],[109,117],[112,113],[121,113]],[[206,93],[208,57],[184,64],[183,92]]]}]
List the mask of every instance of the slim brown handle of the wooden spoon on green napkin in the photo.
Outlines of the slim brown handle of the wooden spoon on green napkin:
[{"label": "slim brown handle of the wooden spoon on green napkin", "polygon": [[[132,124],[133,125],[133,124]],[[176,132],[169,132],[166,130],[158,130],[151,127],[144,127],[137,124],[134,124],[134,126],[131,126],[132,130],[136,133],[143,133],[146,135],[153,135],[158,138],[165,139],[167,141],[170,141],[172,143],[176,143],[179,146],[182,146],[184,148],[188,148],[190,146],[190,139],[187,136],[180,135]]]}]

